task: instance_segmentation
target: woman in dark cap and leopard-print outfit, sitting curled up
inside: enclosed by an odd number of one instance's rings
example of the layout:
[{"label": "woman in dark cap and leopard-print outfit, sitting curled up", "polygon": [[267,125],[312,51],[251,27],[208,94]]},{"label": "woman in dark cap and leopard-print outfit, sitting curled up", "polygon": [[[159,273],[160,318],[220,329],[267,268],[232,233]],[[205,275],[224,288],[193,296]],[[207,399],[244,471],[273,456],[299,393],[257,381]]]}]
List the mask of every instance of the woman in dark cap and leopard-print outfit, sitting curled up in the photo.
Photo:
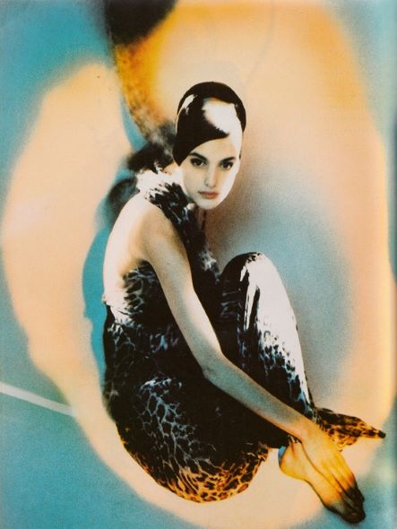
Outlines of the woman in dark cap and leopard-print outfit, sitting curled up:
[{"label": "woman in dark cap and leopard-print outfit, sitting curled up", "polygon": [[194,85],[176,126],[171,163],[135,156],[139,193],[105,256],[104,395],[125,448],[169,490],[211,501],[246,490],[277,447],[282,472],[358,522],[363,497],[341,448],[384,433],[315,407],[272,263],[250,253],[219,273],[199,225],[237,177],[243,103],[224,84]]}]

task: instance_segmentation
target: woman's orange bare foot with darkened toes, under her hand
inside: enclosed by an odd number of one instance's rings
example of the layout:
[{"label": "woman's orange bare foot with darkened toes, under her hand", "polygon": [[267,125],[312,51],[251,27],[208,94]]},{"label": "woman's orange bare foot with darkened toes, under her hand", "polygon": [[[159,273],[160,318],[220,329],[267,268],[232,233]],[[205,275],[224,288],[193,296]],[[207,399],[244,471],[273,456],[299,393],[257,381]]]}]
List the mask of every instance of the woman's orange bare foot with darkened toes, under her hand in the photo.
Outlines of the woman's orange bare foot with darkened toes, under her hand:
[{"label": "woman's orange bare foot with darkened toes, under her hand", "polygon": [[306,481],[315,490],[324,507],[350,524],[357,524],[366,517],[361,502],[335,490],[324,476],[315,470],[300,443],[291,443],[287,447],[280,461],[280,470],[292,478]]}]

